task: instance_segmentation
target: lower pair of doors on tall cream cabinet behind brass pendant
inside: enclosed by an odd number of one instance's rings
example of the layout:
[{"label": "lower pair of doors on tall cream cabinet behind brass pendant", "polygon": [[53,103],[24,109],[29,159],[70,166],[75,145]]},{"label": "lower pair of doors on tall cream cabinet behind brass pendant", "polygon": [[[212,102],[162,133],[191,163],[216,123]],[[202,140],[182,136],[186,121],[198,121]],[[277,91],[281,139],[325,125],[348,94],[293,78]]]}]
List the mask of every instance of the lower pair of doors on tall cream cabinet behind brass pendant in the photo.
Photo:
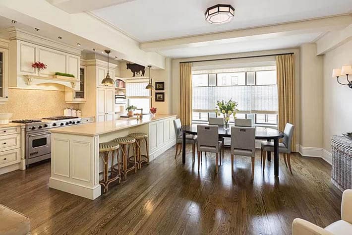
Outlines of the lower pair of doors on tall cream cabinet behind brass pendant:
[{"label": "lower pair of doors on tall cream cabinet behind brass pendant", "polygon": [[112,121],[115,115],[115,90],[111,88],[97,88],[96,120]]}]

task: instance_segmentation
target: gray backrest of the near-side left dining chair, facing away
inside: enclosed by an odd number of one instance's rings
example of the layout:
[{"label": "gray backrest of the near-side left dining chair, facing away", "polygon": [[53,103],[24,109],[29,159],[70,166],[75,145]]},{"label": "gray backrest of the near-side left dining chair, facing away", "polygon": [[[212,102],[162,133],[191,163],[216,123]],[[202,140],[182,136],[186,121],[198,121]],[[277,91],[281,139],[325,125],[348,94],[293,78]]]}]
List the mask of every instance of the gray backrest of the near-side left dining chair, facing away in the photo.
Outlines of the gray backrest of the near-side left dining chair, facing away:
[{"label": "gray backrest of the near-side left dining chair, facing away", "polygon": [[197,125],[197,136],[199,151],[203,148],[212,148],[214,152],[219,152],[219,127],[217,125]]}]

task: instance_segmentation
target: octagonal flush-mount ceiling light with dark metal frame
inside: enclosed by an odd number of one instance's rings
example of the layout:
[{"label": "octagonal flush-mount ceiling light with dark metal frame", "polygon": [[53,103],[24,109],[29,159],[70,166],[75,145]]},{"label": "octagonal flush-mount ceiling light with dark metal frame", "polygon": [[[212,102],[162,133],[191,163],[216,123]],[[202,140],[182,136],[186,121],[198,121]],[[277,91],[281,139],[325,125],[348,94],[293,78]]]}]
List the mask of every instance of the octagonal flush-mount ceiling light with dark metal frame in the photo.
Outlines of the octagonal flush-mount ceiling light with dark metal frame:
[{"label": "octagonal flush-mount ceiling light with dark metal frame", "polygon": [[228,4],[217,4],[205,11],[205,20],[211,24],[224,24],[235,17],[235,8]]}]

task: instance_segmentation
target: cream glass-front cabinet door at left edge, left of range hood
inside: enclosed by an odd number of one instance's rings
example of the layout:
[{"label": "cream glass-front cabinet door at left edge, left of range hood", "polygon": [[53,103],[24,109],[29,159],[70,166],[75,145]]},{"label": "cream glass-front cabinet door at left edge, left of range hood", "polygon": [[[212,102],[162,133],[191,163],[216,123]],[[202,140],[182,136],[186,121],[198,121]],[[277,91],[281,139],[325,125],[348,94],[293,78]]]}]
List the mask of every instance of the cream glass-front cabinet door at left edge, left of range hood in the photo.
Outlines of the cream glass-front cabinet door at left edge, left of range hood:
[{"label": "cream glass-front cabinet door at left edge, left of range hood", "polygon": [[8,51],[6,49],[0,49],[0,103],[8,100],[7,55]]}]

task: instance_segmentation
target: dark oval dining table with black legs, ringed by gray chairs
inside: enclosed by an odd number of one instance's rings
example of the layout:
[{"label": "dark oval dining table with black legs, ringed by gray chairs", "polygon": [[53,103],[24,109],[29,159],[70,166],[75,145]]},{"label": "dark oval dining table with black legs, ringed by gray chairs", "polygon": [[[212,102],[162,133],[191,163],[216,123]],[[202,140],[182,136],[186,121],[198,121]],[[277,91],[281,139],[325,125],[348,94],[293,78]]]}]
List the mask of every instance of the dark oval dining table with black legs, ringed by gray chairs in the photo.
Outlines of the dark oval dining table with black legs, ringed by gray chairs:
[{"label": "dark oval dining table with black legs, ringed by gray chairs", "polygon": [[[182,126],[182,163],[186,163],[186,134],[197,134],[197,125]],[[202,125],[202,124],[201,124]],[[231,126],[225,129],[224,126],[219,126],[219,137],[231,137]],[[255,138],[274,141],[274,176],[279,176],[279,139],[284,137],[284,133],[280,130],[269,127],[255,127]]]}]

